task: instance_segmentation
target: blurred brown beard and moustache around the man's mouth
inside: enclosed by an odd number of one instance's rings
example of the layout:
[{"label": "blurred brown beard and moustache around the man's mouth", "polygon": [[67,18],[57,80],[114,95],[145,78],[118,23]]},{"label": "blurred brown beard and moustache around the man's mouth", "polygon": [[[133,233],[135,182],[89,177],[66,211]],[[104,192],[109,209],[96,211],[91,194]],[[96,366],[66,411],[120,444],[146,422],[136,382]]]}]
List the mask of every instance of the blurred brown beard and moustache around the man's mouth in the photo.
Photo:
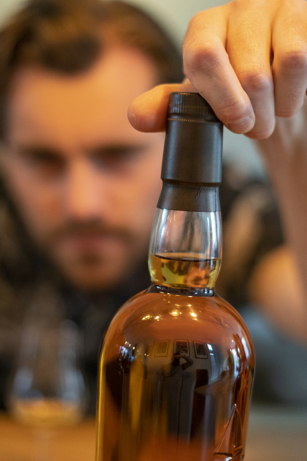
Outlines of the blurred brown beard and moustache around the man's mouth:
[{"label": "blurred brown beard and moustache around the man's mouth", "polygon": [[[66,245],[65,241],[70,243]],[[110,248],[105,241],[110,241]],[[71,220],[50,232],[41,247],[70,283],[97,291],[129,278],[139,262],[145,260],[148,240],[140,242],[127,229],[105,225],[98,219]]]}]

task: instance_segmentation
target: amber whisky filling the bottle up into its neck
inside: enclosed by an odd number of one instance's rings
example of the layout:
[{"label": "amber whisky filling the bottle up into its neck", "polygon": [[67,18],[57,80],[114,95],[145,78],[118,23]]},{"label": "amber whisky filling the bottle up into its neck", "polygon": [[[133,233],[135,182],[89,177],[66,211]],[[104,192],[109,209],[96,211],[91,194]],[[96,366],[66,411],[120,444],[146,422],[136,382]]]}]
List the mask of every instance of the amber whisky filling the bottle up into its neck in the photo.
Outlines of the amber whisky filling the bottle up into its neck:
[{"label": "amber whisky filling the bottle up into its neck", "polygon": [[207,280],[208,287],[217,260],[208,271],[208,260],[169,256],[152,256],[157,285],[127,301],[104,338],[96,461],[244,458],[254,372],[249,333],[219,296],[191,296],[195,285]]}]

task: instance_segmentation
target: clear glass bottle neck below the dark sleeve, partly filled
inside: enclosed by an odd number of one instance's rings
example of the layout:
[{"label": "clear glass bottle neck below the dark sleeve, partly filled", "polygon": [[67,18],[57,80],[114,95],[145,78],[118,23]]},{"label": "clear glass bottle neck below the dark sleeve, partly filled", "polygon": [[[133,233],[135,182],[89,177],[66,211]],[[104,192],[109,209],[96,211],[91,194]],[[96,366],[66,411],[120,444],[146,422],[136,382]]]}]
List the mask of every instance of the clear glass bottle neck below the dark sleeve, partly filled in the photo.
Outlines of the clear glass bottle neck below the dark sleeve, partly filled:
[{"label": "clear glass bottle neck below the dark sleeve, partly filled", "polygon": [[154,285],[213,294],[220,258],[220,212],[157,208],[149,249]]}]

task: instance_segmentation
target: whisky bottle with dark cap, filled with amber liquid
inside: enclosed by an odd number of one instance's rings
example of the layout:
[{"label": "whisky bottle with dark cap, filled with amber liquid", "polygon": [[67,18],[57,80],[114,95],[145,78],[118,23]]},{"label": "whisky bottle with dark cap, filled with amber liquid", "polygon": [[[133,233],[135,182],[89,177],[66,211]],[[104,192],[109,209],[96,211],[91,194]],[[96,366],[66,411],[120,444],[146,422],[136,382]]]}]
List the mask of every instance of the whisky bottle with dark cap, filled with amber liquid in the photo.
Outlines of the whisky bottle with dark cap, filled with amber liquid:
[{"label": "whisky bottle with dark cap, filled with amber liquid", "polygon": [[196,93],[173,93],[151,286],[116,313],[99,360],[96,461],[244,458],[254,351],[216,295],[222,124]]}]

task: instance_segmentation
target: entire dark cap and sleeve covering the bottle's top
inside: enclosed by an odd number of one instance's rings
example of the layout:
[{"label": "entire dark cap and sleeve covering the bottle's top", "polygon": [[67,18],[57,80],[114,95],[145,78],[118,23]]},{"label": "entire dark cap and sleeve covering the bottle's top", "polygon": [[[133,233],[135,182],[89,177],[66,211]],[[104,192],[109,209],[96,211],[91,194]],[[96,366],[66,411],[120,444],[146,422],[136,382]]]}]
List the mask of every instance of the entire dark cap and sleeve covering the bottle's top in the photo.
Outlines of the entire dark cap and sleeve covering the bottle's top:
[{"label": "entire dark cap and sleeve covering the bottle's top", "polygon": [[201,95],[170,95],[158,207],[219,211],[222,140],[223,124]]}]

